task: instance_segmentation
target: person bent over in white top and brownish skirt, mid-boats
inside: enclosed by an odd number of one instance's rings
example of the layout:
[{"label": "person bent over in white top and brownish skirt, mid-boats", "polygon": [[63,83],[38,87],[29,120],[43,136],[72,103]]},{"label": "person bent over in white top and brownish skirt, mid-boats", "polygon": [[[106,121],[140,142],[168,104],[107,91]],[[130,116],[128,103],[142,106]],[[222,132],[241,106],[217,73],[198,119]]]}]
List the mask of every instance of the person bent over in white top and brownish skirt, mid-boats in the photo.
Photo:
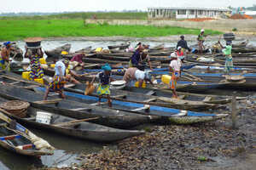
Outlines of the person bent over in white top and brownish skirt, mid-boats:
[{"label": "person bent over in white top and brownish skirt, mid-boats", "polygon": [[139,82],[138,87],[142,88],[143,81],[150,82],[150,84],[154,85],[151,81],[151,75],[149,71],[140,71],[136,67],[131,67],[125,71],[125,76],[123,80],[126,82],[126,85],[133,86],[136,81]]}]

